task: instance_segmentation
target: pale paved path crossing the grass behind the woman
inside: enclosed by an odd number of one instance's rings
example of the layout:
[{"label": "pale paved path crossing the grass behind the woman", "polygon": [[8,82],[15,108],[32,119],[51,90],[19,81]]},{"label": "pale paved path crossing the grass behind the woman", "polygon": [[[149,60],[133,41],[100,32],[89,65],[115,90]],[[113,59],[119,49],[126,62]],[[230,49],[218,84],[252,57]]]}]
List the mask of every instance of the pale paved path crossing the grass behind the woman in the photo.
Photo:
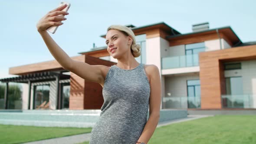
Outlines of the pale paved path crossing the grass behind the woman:
[{"label": "pale paved path crossing the grass behind the woman", "polygon": [[[190,120],[205,118],[209,116],[214,116],[214,115],[188,115],[187,118],[180,118],[180,119],[175,119],[171,121],[161,122],[158,124],[157,128],[164,125],[168,125],[168,124],[174,124],[174,123],[179,123],[183,121],[190,121]],[[68,137],[52,138],[48,140],[33,141],[33,142],[23,143],[23,144],[77,144],[77,143],[82,143],[84,141],[90,141],[90,135],[91,133],[77,134],[77,135],[72,135]]]}]

